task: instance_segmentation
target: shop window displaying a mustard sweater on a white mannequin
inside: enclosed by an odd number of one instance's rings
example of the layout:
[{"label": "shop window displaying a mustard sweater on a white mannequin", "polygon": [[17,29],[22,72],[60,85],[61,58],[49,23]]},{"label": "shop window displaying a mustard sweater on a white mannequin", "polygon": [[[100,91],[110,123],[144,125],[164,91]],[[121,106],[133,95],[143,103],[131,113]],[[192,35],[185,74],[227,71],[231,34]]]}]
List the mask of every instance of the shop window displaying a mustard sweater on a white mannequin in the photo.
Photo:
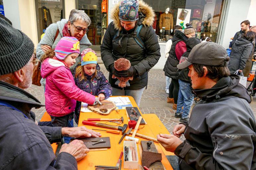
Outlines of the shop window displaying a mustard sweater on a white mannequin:
[{"label": "shop window displaying a mustard sweater on a white mannequin", "polygon": [[[153,27],[156,29],[156,34],[161,37],[161,40],[166,41],[164,34],[173,35],[173,32],[168,30],[174,25],[181,25],[185,28],[186,23],[190,23],[197,30],[197,38],[209,37],[213,42],[216,42],[224,0],[144,1],[155,10],[156,20]],[[169,11],[165,14],[167,8],[169,8]],[[170,16],[173,20],[172,25]],[[167,29],[160,33],[160,26]]]}]

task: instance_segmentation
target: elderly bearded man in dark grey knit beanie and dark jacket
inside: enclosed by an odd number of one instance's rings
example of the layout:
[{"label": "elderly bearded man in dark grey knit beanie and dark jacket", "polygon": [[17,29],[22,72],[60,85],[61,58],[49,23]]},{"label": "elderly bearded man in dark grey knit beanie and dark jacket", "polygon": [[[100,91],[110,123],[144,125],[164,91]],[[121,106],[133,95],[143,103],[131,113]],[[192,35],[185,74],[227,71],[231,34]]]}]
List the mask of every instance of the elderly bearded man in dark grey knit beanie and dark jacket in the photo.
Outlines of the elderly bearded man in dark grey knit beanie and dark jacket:
[{"label": "elderly bearded man in dark grey knit beanie and dark jacket", "polygon": [[23,89],[32,83],[34,45],[20,30],[0,18],[0,169],[77,169],[90,150],[83,142],[64,144],[57,158],[50,143],[62,136],[99,137],[85,127],[35,124],[32,108],[44,105]]}]

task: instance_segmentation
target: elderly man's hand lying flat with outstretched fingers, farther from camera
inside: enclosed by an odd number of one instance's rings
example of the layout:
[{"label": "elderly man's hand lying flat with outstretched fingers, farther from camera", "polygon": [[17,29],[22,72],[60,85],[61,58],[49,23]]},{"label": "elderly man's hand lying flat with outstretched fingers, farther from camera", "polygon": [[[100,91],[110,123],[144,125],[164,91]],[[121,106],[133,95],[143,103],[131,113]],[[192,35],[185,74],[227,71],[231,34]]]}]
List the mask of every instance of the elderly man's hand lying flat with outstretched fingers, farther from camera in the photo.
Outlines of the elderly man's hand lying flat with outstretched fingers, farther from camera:
[{"label": "elderly man's hand lying flat with outstretched fingers, farther from camera", "polygon": [[100,137],[99,132],[95,132],[91,129],[87,129],[85,126],[80,127],[62,127],[61,128],[62,136],[68,136],[72,138],[79,137]]}]

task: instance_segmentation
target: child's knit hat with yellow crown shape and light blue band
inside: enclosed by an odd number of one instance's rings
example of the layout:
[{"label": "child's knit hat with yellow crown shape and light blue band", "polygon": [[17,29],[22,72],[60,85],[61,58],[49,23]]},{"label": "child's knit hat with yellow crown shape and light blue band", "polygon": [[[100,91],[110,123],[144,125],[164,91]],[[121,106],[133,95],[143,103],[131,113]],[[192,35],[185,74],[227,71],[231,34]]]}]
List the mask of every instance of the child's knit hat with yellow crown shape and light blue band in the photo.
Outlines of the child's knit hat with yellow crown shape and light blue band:
[{"label": "child's knit hat with yellow crown shape and light blue band", "polygon": [[81,65],[86,64],[97,64],[98,58],[96,56],[96,52],[92,49],[85,49],[81,52]]}]

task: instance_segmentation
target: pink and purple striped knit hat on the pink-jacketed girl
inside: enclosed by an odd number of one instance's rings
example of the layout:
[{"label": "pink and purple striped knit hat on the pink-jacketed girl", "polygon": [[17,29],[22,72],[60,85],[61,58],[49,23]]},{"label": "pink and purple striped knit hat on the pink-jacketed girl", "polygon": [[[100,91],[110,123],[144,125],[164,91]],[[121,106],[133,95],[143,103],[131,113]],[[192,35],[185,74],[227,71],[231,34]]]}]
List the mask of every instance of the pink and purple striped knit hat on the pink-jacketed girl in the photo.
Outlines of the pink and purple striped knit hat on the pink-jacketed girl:
[{"label": "pink and purple striped knit hat on the pink-jacketed girl", "polygon": [[75,37],[62,37],[55,47],[55,56],[64,60],[71,53],[80,54],[79,41]]}]

